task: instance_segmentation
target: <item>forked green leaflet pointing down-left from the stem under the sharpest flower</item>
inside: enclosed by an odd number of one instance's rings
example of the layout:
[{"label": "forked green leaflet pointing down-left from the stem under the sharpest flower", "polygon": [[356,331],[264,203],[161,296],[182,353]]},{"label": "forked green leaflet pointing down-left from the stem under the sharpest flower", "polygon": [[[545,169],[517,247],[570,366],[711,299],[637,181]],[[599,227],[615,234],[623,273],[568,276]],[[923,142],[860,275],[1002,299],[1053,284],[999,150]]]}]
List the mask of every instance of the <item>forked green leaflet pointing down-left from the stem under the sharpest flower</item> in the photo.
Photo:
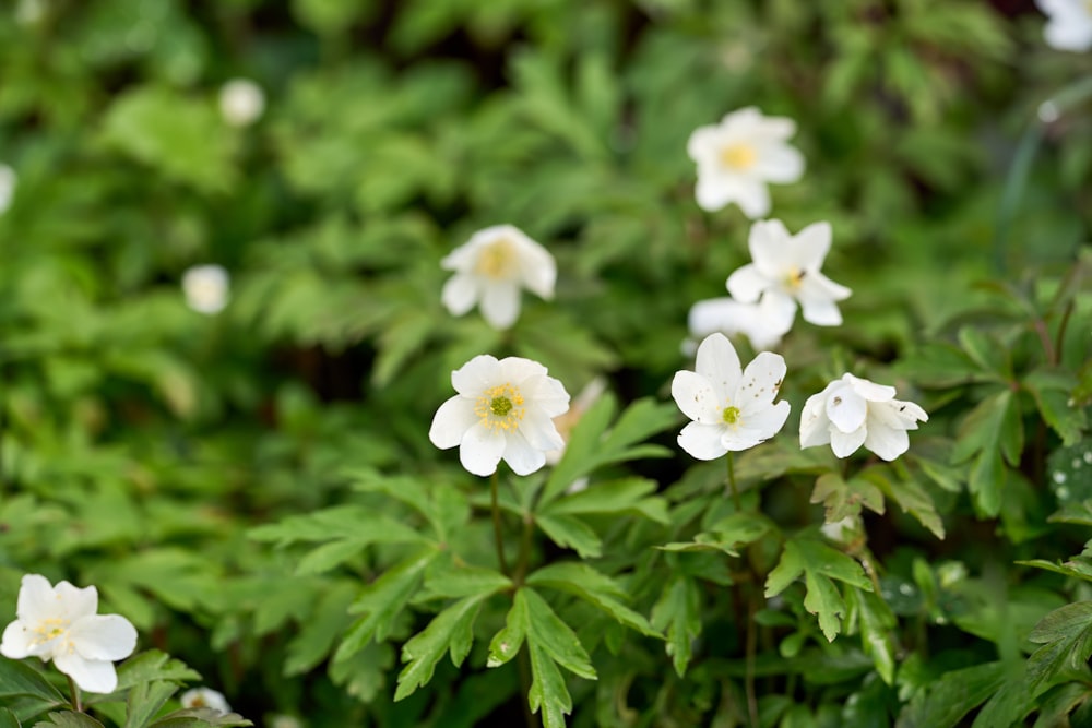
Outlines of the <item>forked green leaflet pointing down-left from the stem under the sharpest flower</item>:
[{"label": "forked green leaflet pointing down-left from the stem under the sharpest flower", "polygon": [[424,631],[403,645],[402,661],[406,666],[399,673],[395,701],[412,695],[417,688],[431,680],[436,664],[443,657],[443,653],[451,653],[451,661],[455,667],[462,665],[474,637],[474,620],[488,596],[477,594],[460,599],[437,614]]}]

